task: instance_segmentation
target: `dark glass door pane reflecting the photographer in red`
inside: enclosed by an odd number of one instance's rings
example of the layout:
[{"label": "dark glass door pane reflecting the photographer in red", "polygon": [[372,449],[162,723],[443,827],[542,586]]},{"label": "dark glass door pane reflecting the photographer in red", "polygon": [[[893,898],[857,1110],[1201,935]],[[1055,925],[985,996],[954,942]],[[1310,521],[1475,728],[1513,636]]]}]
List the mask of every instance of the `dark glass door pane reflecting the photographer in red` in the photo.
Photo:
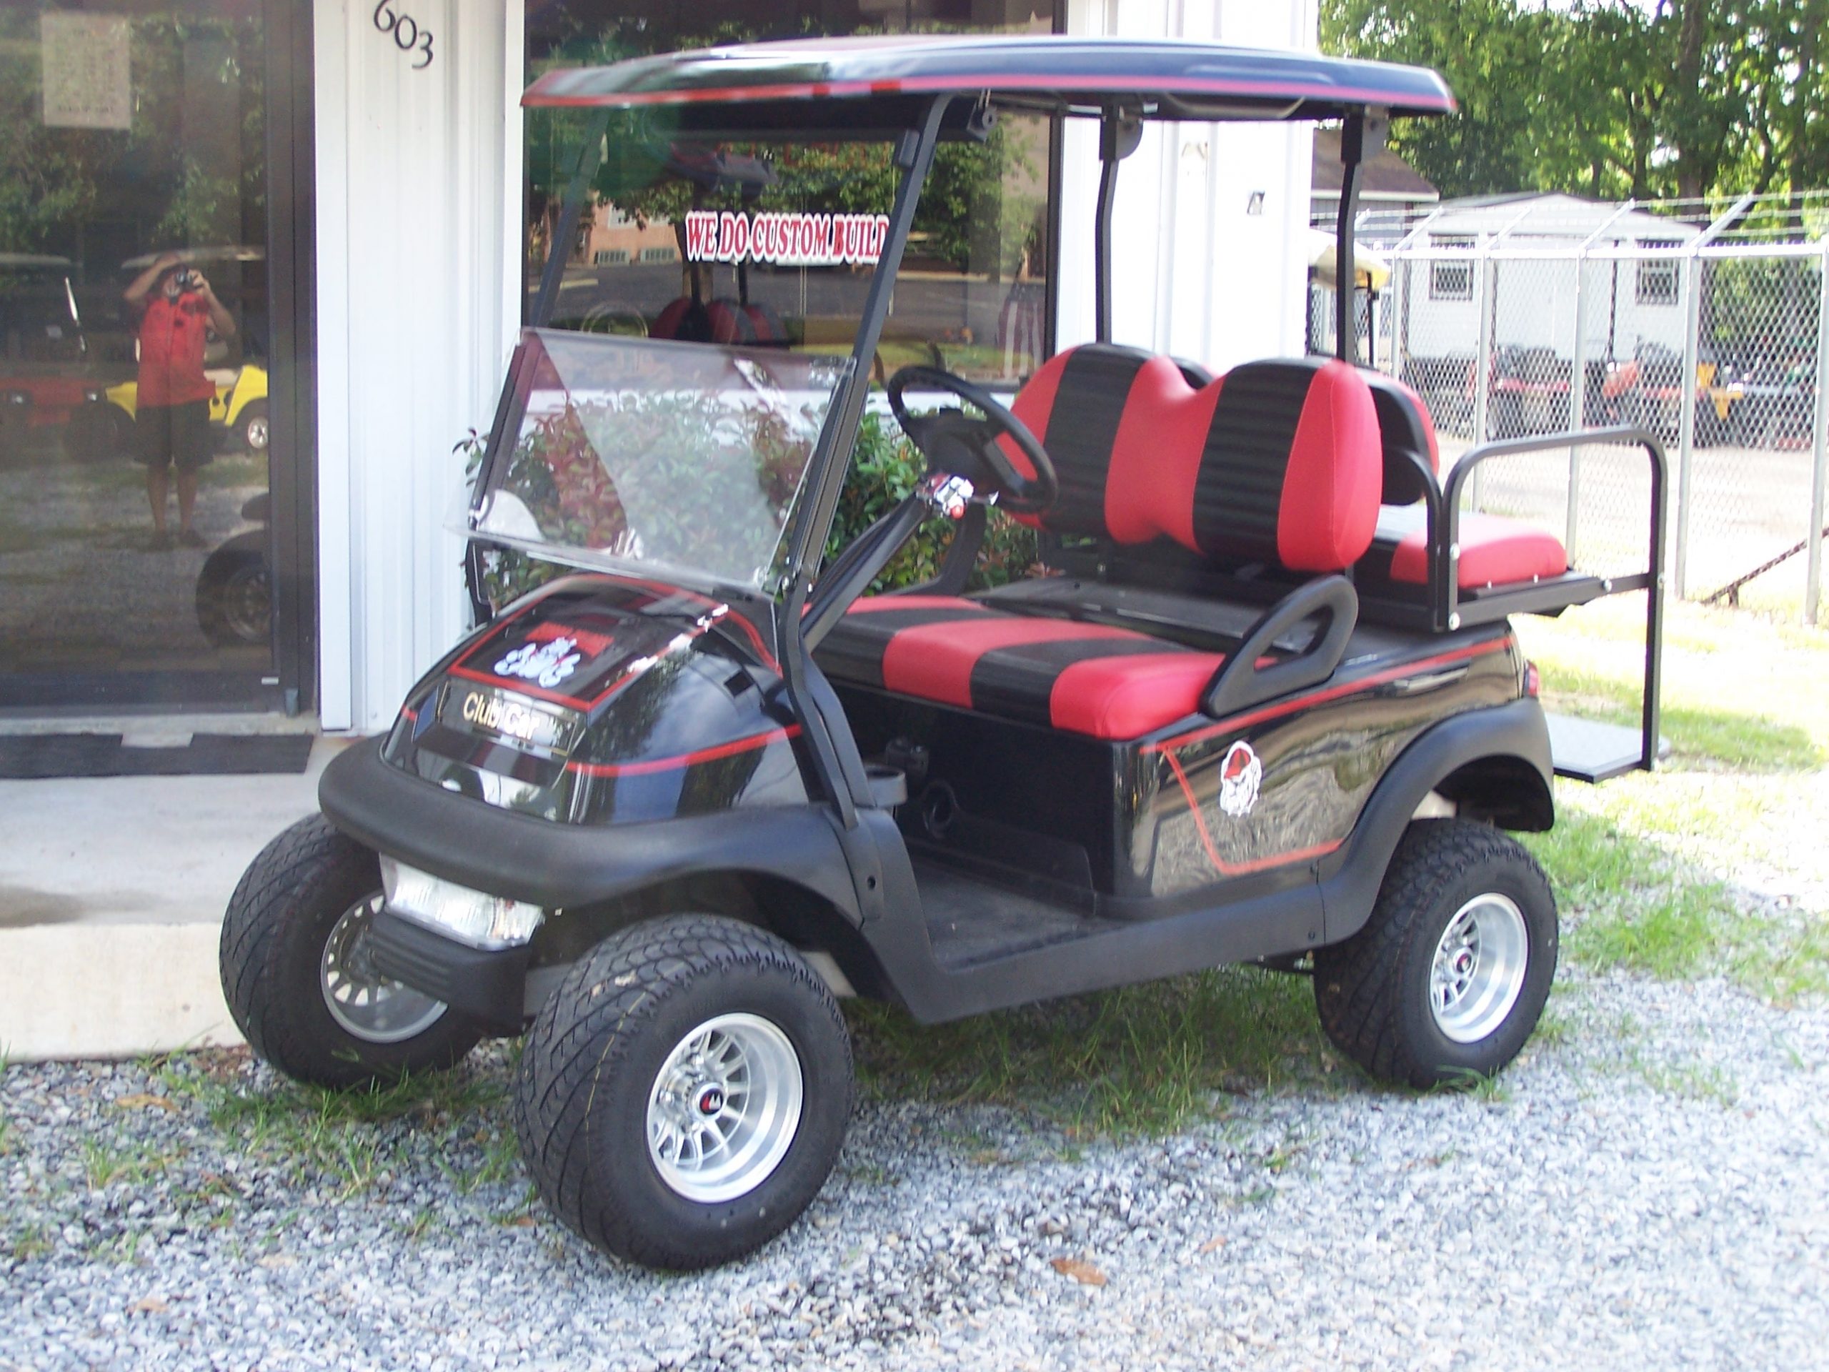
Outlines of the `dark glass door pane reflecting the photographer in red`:
[{"label": "dark glass door pane reflecting the photographer in red", "polygon": [[273,671],[265,26],[0,4],[0,706]]}]

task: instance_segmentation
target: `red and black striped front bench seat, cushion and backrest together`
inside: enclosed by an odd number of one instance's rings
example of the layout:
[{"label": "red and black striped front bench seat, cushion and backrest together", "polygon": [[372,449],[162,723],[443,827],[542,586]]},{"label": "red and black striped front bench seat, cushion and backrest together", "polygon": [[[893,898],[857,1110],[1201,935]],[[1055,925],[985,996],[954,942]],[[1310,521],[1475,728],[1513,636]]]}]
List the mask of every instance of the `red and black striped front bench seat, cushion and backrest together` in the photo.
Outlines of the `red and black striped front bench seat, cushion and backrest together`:
[{"label": "red and black striped front bench seat, cushion and backrest together", "polygon": [[[1061,479],[1039,518],[1050,532],[1306,573],[1342,571],[1372,541],[1377,419],[1341,362],[1255,362],[1196,386],[1167,357],[1092,344],[1050,360],[1011,408]],[[1134,739],[1196,713],[1225,657],[1110,624],[891,595],[852,606],[819,660],[841,682]]]}]

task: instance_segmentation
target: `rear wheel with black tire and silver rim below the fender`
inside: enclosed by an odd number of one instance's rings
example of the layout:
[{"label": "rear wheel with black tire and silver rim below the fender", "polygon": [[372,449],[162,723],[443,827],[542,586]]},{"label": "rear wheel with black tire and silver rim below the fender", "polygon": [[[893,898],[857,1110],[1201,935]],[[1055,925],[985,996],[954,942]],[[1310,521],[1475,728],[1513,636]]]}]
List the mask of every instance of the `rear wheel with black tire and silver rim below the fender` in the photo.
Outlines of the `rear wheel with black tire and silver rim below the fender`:
[{"label": "rear wheel with black tire and silver rim below the fender", "polygon": [[1333,1045],[1408,1087],[1471,1085],[1536,1028],[1556,975],[1556,900],[1513,838],[1417,820],[1366,926],[1315,953],[1315,1008]]}]

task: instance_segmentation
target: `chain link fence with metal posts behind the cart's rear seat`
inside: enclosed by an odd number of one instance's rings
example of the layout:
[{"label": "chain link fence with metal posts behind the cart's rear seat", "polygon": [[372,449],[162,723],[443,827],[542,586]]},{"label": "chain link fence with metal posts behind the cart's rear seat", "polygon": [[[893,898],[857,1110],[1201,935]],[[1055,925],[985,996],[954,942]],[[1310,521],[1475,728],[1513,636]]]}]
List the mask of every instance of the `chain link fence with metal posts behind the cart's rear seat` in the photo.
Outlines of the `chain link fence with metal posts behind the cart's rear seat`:
[{"label": "chain link fence with metal posts behind the cart's rear seat", "polygon": [[[1829,448],[1829,198],[1599,205],[1567,196],[1361,220],[1359,355],[1428,404],[1443,465],[1481,441],[1642,424],[1670,457],[1668,585],[1816,622]],[[1364,280],[1364,278],[1363,278]],[[1332,351],[1333,293],[1310,296]],[[1642,567],[1635,448],[1498,459],[1476,510],[1547,525],[1571,562]]]}]

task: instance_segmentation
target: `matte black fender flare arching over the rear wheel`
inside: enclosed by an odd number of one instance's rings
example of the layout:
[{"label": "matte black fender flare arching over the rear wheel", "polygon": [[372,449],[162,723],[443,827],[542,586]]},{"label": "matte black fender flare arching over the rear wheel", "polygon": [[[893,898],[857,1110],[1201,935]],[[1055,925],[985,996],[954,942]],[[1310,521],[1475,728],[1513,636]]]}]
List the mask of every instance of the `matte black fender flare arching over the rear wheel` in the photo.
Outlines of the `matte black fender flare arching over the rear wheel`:
[{"label": "matte black fender flare arching over the rear wheel", "polygon": [[1549,724],[1535,697],[1445,719],[1397,756],[1366,798],[1353,832],[1321,862],[1322,942],[1337,944],[1364,927],[1385,869],[1417,807],[1443,779],[1485,757],[1524,761],[1549,794],[1555,776]]}]

